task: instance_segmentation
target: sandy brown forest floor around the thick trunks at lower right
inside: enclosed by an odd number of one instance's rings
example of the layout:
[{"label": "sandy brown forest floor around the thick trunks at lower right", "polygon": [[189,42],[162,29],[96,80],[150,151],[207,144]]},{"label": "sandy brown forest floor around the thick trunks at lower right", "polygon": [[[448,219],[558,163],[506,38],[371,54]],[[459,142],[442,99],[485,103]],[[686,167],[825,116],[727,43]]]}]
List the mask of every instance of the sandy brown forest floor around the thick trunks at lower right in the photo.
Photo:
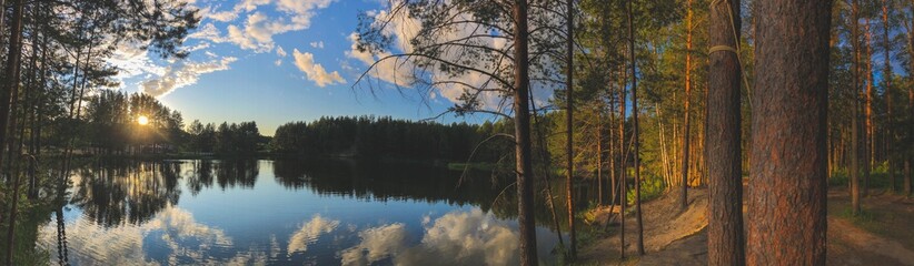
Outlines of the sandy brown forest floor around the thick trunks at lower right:
[{"label": "sandy brown forest floor around the thick trunks at lower right", "polygon": [[[586,244],[582,265],[707,265],[707,191],[689,190],[689,205],[679,212],[678,193],[643,204],[647,255],[637,257],[635,218],[626,216],[626,256],[619,259],[618,226]],[[828,265],[914,265],[914,198],[871,191],[862,215],[850,215],[846,188],[828,192]],[[598,209],[605,221],[607,209]],[[593,226],[603,226],[595,224]]]}]

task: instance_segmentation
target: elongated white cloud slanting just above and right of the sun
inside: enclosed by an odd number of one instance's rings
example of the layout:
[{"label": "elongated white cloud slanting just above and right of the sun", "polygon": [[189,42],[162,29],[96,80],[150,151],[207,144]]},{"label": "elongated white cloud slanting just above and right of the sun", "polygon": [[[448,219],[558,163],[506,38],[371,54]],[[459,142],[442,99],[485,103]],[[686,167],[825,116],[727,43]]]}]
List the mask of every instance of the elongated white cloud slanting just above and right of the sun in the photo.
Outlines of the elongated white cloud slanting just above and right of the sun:
[{"label": "elongated white cloud slanting just above and right of the sun", "polygon": [[140,88],[149,95],[161,96],[175,89],[197,83],[201,74],[228,70],[229,64],[237,60],[237,58],[228,57],[209,62],[179,61],[166,68],[158,78],[141,82]]}]

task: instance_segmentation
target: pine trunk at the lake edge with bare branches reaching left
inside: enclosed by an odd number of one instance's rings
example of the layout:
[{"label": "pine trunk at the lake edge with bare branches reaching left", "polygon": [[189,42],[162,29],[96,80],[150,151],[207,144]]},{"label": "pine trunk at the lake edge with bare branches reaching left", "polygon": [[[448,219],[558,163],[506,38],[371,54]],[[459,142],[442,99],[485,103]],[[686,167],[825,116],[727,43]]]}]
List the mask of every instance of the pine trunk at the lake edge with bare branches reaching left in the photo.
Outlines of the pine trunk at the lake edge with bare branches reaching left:
[{"label": "pine trunk at the lake edge with bare branches reaching left", "polygon": [[529,52],[527,0],[516,0],[514,9],[515,88],[514,133],[517,171],[517,223],[520,232],[520,265],[537,265],[536,221],[534,217],[533,163],[530,150]]}]

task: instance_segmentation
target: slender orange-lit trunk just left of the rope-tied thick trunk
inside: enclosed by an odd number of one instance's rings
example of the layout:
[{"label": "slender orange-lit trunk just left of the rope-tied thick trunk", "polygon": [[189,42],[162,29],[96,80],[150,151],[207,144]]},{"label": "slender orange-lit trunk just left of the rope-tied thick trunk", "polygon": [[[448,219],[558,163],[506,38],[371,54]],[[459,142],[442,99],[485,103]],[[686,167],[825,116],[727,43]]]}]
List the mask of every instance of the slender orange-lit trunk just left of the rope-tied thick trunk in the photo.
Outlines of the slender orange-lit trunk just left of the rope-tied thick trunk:
[{"label": "slender orange-lit trunk just left of the rope-tied thick trunk", "polygon": [[686,69],[685,69],[685,95],[683,98],[683,187],[679,194],[679,209],[688,207],[688,135],[691,123],[688,120],[688,105],[692,100],[692,0],[686,1]]}]

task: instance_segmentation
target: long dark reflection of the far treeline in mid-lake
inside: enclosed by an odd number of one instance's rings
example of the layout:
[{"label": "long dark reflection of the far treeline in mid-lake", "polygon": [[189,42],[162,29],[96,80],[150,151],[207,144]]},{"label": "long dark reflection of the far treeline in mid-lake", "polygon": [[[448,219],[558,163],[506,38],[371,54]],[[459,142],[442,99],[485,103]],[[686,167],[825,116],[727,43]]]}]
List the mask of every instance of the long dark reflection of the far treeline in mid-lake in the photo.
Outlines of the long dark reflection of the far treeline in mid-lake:
[{"label": "long dark reflection of the far treeline in mid-lake", "polygon": [[471,204],[483,209],[489,209],[495,195],[509,184],[508,178],[486,175],[466,178],[458,186],[460,172],[420,163],[276,161],[274,173],[284,186],[308,188],[318,195]]}]

